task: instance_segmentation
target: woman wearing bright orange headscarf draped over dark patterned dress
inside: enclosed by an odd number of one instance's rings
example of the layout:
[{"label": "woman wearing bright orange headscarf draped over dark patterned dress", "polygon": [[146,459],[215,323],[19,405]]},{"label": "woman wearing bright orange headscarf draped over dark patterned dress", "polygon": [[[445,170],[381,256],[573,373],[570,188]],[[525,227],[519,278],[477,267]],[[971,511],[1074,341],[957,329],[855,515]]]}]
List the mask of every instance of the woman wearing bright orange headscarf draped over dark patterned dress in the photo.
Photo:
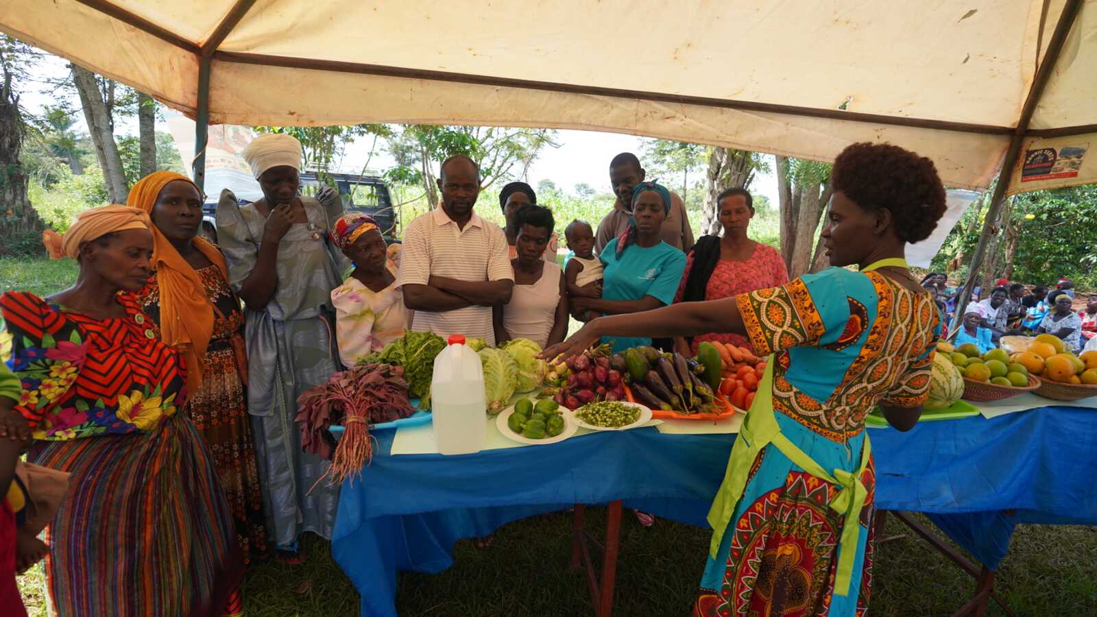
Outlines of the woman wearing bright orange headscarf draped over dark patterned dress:
[{"label": "woman wearing bright orange headscarf draped over dark patterned dress", "polygon": [[186,362],[183,414],[205,438],[245,561],[267,552],[259,471],[248,417],[240,299],[220,250],[200,235],[202,191],[190,178],[157,171],[129,190],[129,205],[152,220],[152,276],[138,294],[160,337]]}]

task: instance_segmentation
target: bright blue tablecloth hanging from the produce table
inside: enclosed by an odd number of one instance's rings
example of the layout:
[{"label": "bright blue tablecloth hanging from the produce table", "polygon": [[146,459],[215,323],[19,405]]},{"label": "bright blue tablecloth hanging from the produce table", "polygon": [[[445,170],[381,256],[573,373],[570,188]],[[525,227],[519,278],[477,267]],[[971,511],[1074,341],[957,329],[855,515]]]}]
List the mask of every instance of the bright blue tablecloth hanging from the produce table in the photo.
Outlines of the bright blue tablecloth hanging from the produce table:
[{"label": "bright blue tablecloth hanging from the produce table", "polygon": [[[869,429],[877,506],[927,513],[988,568],[1017,523],[1097,524],[1097,411],[1041,407],[985,419]],[[625,504],[705,525],[732,435],[601,433],[475,455],[388,455],[342,486],[332,554],[363,615],[396,615],[396,572],[440,572],[453,542],[575,503]]]}]

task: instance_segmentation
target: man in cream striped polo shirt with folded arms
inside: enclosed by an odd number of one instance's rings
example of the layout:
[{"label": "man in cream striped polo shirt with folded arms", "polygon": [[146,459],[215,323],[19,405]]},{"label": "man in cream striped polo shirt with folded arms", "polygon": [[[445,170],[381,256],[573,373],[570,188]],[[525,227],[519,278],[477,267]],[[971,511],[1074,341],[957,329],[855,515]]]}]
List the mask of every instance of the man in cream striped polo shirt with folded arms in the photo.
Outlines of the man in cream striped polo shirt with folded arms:
[{"label": "man in cream striped polo shirt with folded arms", "polygon": [[495,345],[491,306],[510,302],[514,272],[502,228],[473,213],[479,167],[464,155],[445,159],[441,207],[408,225],[396,284],[415,311],[411,329],[483,338]]}]

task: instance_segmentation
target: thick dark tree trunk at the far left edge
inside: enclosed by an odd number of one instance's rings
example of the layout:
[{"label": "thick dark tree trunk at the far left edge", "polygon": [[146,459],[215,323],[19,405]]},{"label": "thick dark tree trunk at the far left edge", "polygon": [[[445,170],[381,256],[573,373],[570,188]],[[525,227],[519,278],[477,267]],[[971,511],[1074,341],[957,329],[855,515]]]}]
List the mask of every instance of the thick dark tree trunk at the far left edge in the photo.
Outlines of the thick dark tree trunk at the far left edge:
[{"label": "thick dark tree trunk at the far left edge", "polygon": [[23,149],[25,124],[19,112],[19,97],[12,90],[11,76],[0,83],[0,255],[41,253],[42,231],[38,213],[26,197],[26,176],[19,155]]}]

